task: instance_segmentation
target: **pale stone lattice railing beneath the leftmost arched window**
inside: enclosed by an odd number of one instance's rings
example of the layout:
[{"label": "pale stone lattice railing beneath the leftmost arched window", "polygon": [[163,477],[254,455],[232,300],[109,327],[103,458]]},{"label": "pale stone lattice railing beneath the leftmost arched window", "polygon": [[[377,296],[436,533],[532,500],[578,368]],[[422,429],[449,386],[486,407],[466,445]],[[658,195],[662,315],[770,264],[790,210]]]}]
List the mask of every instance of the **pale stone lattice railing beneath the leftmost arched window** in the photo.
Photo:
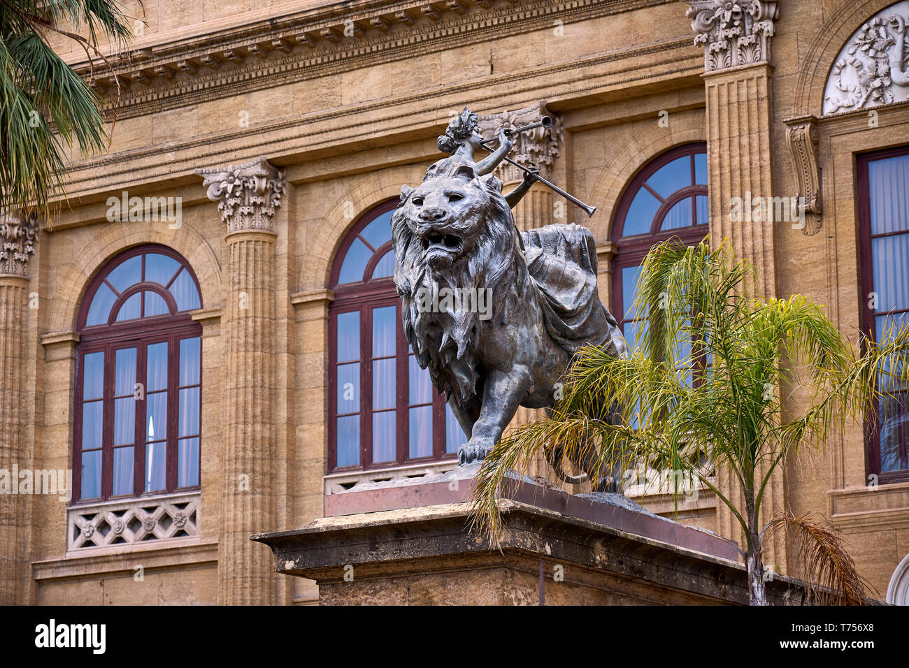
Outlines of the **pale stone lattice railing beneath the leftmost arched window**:
[{"label": "pale stone lattice railing beneath the leftmost arched window", "polygon": [[67,551],[199,535],[200,493],[76,505],[66,510]]}]

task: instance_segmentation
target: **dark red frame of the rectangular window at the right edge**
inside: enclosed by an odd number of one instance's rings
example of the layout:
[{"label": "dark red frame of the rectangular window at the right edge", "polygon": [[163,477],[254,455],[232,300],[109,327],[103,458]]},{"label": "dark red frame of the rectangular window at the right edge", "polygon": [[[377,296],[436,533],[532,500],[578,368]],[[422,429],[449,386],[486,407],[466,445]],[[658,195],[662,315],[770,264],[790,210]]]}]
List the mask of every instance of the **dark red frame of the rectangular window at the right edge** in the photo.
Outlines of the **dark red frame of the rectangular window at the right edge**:
[{"label": "dark red frame of the rectangular window at the right edge", "polygon": [[[887,233],[871,234],[871,184],[869,182],[868,164],[875,160],[897,157],[900,155],[909,155],[909,145],[897,148],[889,148],[883,151],[874,151],[858,155],[856,157],[856,170],[858,181],[858,264],[859,264],[859,281],[861,290],[859,291],[859,312],[861,314],[862,330],[869,336],[874,337],[876,327],[874,324],[875,316],[884,313],[876,313],[869,304],[868,294],[874,292],[874,257],[872,256],[872,239],[883,236],[892,236],[894,234],[909,233]],[[909,309],[896,309],[888,311],[886,314],[900,314]],[[909,393],[903,393],[909,396]],[[909,481],[909,469],[899,471],[881,472],[881,424],[877,419],[877,405],[868,408],[868,414],[864,424],[865,438],[865,465],[868,474],[877,475],[877,482],[880,484],[887,483],[904,483]],[[909,434],[906,433],[904,424],[900,425],[900,449],[909,447]]]}]

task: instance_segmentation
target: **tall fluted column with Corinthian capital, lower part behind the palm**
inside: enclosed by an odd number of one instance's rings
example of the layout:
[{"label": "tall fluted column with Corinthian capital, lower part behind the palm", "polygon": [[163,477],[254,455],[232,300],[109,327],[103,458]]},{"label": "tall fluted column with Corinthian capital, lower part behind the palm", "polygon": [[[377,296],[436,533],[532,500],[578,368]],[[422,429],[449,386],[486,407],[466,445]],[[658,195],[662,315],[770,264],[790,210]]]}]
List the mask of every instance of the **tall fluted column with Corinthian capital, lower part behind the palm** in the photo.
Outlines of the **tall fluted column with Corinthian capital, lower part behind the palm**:
[{"label": "tall fluted column with Corinthian capital, lower part behind the palm", "polygon": [[[716,247],[728,239],[740,259],[757,271],[760,291],[774,296],[774,226],[790,221],[763,220],[753,215],[755,202],[774,196],[770,128],[770,44],[774,21],[779,15],[775,2],[764,0],[688,0],[687,15],[697,34],[695,45],[704,45],[706,86],[707,187],[710,200],[710,240]],[[741,198],[735,200],[734,198]],[[741,202],[736,211],[734,204]],[[766,211],[766,209],[764,209]],[[738,485],[724,474],[720,485],[736,507],[744,509]],[[783,507],[783,470],[778,468],[762,505],[762,524]],[[724,504],[718,506],[717,526],[722,535],[744,540],[738,522]],[[779,541],[764,544],[764,563],[785,565]]]}]

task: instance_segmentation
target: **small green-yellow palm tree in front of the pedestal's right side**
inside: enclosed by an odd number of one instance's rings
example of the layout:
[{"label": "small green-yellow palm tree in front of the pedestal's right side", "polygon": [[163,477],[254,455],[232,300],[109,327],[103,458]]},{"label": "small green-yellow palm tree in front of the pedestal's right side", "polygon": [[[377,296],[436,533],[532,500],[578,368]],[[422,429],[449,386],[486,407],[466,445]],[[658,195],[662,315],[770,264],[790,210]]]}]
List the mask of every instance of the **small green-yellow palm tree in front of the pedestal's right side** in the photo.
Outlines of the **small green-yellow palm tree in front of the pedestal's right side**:
[{"label": "small green-yellow palm tree in front of the pedestal's right side", "polygon": [[[888,388],[905,387],[909,327],[891,327],[882,344],[863,337],[860,353],[811,300],[796,294],[764,301],[756,283],[751,265],[737,262],[725,243],[713,252],[706,240],[655,246],[632,309],[643,321],[637,349],[618,359],[596,346],[577,354],[564,397],[547,419],[506,434],[484,461],[474,528],[497,543],[504,480],[559,444],[566,459],[592,457],[607,474],[637,461],[682,472],[676,481],[700,480],[741,525],[752,604],[766,603],[762,544],[779,531],[800,545],[812,591],[864,603],[868,583],[831,530],[811,514],[780,513],[765,526],[758,518],[767,484],[787,456],[823,448],[832,430],[894,399]],[[810,398],[793,412],[784,392],[796,388]],[[604,406],[623,424],[604,419]],[[706,474],[720,470],[740,486],[744,507]],[[678,484],[673,493],[681,494]]]}]

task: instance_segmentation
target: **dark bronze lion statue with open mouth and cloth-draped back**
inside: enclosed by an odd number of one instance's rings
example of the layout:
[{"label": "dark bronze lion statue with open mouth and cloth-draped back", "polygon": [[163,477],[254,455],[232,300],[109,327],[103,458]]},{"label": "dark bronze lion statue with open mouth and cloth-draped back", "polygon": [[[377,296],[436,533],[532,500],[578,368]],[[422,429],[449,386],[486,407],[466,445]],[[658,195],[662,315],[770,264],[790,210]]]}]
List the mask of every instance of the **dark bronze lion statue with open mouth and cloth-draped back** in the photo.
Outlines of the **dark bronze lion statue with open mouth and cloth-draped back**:
[{"label": "dark bronze lion statue with open mouth and cloth-draped back", "polygon": [[[593,234],[575,224],[519,232],[494,174],[452,164],[403,186],[392,241],[407,341],[470,434],[460,464],[484,459],[519,405],[554,404],[583,344],[627,354],[596,292]],[[427,307],[427,294],[470,289],[491,297],[488,308]]]}]

